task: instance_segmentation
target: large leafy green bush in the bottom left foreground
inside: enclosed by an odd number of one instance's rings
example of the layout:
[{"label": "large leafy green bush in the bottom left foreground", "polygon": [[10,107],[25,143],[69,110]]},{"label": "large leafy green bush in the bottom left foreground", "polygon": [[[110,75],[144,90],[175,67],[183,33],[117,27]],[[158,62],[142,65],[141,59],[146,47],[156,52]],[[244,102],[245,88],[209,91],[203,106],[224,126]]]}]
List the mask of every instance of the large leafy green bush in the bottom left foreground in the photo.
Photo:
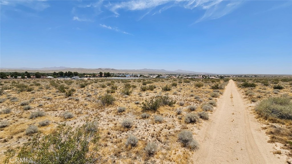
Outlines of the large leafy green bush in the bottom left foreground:
[{"label": "large leafy green bush in the bottom left foreground", "polygon": [[10,150],[6,159],[8,161],[16,154],[17,158],[32,159],[34,163],[95,164],[99,158],[89,147],[97,150],[98,141],[98,133],[87,132],[84,125],[72,130],[72,127],[61,124],[54,133],[43,137],[40,134],[35,135],[20,148],[19,152]]}]

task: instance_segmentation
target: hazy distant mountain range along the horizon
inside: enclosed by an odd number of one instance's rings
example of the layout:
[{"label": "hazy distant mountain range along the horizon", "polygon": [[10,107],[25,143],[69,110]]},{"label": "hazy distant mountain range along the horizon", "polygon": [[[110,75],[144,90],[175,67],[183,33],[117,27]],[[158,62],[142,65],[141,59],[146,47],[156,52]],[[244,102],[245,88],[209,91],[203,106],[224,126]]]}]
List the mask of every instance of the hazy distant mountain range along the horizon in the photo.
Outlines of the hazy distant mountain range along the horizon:
[{"label": "hazy distant mountain range along the horizon", "polygon": [[213,74],[207,72],[194,72],[185,70],[168,71],[165,69],[113,69],[113,68],[70,68],[70,67],[44,67],[44,68],[0,68],[1,72],[58,72],[58,71],[74,71],[79,73],[99,73],[99,72],[110,72],[110,73],[124,73],[124,74]]}]

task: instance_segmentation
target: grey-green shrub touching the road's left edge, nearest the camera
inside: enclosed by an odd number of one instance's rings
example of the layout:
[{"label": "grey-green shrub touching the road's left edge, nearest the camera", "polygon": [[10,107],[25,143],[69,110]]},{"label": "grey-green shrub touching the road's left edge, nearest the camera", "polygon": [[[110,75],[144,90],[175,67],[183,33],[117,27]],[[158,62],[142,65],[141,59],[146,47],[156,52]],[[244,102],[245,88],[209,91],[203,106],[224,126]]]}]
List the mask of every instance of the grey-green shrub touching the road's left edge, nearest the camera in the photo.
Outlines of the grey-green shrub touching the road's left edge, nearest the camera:
[{"label": "grey-green shrub touching the road's left edge, nearest the camera", "polygon": [[184,147],[188,147],[191,150],[199,149],[199,143],[194,140],[193,134],[189,130],[182,130],[178,134],[178,142],[180,142]]}]

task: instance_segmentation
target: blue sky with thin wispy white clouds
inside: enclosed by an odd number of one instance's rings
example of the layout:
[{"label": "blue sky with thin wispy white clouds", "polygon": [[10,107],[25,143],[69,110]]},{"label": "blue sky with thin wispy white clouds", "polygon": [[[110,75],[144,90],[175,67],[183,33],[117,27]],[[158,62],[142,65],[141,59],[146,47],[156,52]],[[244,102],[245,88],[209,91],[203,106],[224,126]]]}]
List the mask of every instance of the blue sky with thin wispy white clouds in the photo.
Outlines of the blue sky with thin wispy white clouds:
[{"label": "blue sky with thin wispy white clouds", "polygon": [[292,1],[1,1],[1,67],[292,74]]}]

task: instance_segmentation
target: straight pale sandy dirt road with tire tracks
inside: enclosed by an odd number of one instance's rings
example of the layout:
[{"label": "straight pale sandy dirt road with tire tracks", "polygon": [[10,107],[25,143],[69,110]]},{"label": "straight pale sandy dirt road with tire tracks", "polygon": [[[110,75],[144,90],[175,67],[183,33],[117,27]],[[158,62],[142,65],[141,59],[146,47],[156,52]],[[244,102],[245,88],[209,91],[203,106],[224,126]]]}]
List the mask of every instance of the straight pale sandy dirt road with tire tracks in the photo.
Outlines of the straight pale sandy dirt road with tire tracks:
[{"label": "straight pale sandy dirt road with tire tracks", "polygon": [[200,149],[194,153],[193,163],[286,163],[286,156],[272,153],[280,148],[267,143],[268,136],[232,80],[196,139]]}]

